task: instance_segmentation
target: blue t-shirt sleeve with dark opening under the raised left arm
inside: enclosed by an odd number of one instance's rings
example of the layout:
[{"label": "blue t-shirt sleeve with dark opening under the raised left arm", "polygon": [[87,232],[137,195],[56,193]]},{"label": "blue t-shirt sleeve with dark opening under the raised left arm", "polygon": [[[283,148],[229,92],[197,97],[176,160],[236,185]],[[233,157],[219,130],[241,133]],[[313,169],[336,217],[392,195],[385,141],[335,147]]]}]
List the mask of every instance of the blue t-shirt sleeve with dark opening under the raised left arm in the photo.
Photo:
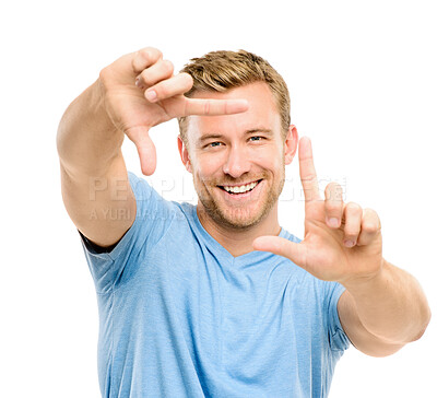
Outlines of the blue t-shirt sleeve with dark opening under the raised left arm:
[{"label": "blue t-shirt sleeve with dark opening under the raised left arm", "polygon": [[98,294],[111,292],[133,274],[141,258],[164,236],[175,216],[173,202],[163,199],[145,179],[129,172],[135,202],[135,220],[121,239],[107,251],[80,232],[82,247]]}]

